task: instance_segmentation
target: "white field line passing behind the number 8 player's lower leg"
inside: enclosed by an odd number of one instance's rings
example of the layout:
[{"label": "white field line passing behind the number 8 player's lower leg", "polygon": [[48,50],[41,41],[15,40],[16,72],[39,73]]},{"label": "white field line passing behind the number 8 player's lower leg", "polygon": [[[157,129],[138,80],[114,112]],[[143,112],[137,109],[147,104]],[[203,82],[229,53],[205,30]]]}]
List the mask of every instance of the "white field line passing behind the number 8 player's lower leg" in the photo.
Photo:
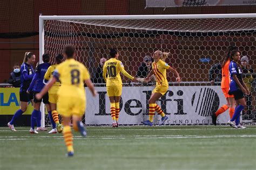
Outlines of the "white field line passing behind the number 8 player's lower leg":
[{"label": "white field line passing behind the number 8 player's lower leg", "polygon": [[[31,136],[21,136],[21,137],[13,137],[13,136],[5,136],[0,137],[0,140],[23,140],[23,139],[45,139],[45,138],[51,138],[51,139],[61,139],[63,140],[62,136],[36,136],[36,134]],[[256,134],[246,135],[103,135],[103,136],[89,136],[87,138],[75,136],[74,139],[198,139],[198,138],[256,138]]]}]

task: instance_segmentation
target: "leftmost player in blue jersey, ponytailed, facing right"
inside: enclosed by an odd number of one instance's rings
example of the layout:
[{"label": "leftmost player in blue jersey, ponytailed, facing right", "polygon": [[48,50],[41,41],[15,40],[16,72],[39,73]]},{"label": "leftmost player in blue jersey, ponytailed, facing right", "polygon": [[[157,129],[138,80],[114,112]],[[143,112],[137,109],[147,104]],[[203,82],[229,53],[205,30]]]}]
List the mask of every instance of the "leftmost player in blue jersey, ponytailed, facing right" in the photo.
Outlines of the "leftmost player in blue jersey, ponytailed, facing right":
[{"label": "leftmost player in blue jersey, ponytailed, facing right", "polygon": [[28,108],[29,101],[32,101],[32,94],[26,93],[29,85],[34,76],[33,64],[35,63],[36,56],[32,52],[25,52],[23,64],[21,65],[21,89],[19,90],[19,100],[21,101],[21,108],[16,111],[8,126],[11,131],[16,131],[14,128],[15,121],[26,111]]}]

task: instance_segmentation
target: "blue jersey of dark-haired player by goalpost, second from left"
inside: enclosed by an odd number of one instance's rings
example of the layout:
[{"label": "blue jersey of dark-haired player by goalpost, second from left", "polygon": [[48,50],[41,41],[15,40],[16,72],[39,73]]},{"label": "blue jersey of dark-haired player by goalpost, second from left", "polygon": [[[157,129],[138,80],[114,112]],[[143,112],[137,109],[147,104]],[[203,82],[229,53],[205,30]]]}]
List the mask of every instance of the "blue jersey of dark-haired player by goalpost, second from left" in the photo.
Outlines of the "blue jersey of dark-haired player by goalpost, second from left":
[{"label": "blue jersey of dark-haired player by goalpost, second from left", "polygon": [[29,91],[40,92],[44,87],[44,74],[46,73],[50,63],[42,63],[36,67],[35,75],[33,76],[32,82],[29,86]]}]

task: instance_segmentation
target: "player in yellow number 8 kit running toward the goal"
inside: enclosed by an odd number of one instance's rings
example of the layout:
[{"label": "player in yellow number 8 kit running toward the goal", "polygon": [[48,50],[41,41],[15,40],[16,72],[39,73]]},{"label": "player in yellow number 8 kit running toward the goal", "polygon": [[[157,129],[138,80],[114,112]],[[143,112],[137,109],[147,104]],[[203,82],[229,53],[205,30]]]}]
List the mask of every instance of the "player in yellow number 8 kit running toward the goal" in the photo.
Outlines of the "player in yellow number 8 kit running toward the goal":
[{"label": "player in yellow number 8 kit running toward the goal", "polygon": [[71,117],[74,130],[79,131],[82,136],[86,136],[86,131],[81,121],[86,103],[84,81],[93,96],[96,96],[96,90],[86,67],[74,59],[75,47],[73,45],[65,46],[64,57],[66,58],[65,62],[56,67],[52,79],[49,80],[40,93],[36,94],[36,98],[38,100],[41,99],[57,80],[62,82],[62,86],[58,90],[57,109],[62,115],[63,136],[68,149],[68,156],[72,157],[74,150],[73,135],[70,127]]}]

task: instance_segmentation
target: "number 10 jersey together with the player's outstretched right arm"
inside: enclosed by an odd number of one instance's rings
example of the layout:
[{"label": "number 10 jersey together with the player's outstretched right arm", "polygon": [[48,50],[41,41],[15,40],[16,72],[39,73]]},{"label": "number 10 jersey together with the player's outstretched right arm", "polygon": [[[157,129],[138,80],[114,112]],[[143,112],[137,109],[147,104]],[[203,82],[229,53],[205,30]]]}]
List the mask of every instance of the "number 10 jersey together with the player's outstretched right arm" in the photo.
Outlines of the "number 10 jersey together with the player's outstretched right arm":
[{"label": "number 10 jersey together with the player's outstretched right arm", "polygon": [[120,60],[117,60],[116,58],[107,60],[103,66],[103,78],[106,81],[106,86],[122,86],[123,83],[120,77],[120,72],[131,80],[134,78],[124,70],[124,65]]}]

